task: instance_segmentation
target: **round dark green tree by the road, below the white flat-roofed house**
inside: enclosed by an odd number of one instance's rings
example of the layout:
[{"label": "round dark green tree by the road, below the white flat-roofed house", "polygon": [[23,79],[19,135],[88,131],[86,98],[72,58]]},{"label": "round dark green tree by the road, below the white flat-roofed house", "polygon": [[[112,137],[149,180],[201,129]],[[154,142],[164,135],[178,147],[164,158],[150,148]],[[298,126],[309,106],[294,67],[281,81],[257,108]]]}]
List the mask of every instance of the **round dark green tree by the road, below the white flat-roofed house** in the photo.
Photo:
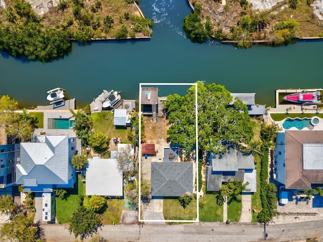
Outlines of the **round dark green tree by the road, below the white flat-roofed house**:
[{"label": "round dark green tree by the road, below the white flat-roofed house", "polygon": [[83,206],[79,206],[74,210],[72,217],[70,218],[70,233],[74,233],[75,238],[78,235],[81,238],[85,238],[93,233],[95,229],[101,226],[101,219],[98,214],[93,210],[88,210]]}]

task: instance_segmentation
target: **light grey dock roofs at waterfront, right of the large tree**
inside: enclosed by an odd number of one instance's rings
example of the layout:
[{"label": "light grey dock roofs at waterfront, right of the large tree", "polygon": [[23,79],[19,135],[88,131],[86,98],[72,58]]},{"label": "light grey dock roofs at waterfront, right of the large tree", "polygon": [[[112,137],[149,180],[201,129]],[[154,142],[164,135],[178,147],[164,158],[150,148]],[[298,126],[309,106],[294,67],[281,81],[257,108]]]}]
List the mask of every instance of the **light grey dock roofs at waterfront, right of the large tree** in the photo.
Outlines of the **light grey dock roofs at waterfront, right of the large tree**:
[{"label": "light grey dock roofs at waterfront, right of the large tree", "polygon": [[232,102],[229,105],[233,105],[235,100],[238,98],[248,107],[248,114],[250,116],[259,116],[265,114],[266,105],[258,105],[255,103],[256,93],[231,93]]}]

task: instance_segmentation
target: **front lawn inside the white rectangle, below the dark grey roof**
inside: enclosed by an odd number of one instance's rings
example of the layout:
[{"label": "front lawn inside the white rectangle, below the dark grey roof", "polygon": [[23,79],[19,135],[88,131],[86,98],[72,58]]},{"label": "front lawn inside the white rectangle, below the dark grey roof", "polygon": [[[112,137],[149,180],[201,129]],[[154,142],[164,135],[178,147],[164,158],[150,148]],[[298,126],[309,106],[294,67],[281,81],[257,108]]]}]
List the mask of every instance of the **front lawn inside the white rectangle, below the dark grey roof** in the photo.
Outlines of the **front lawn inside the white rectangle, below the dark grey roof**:
[{"label": "front lawn inside the white rectangle, below the dark grey roof", "polygon": [[166,198],[164,202],[164,218],[172,220],[193,220],[196,218],[196,199],[184,209],[177,198]]}]

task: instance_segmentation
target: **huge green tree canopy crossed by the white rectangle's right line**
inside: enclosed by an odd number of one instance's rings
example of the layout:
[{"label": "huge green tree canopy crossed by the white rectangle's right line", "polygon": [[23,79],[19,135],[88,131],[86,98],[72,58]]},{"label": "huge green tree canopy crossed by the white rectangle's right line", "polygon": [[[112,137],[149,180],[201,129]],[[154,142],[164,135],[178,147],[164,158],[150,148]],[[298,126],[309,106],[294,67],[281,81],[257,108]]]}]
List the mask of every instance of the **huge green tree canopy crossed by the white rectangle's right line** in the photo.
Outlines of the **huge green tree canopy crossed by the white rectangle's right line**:
[{"label": "huge green tree canopy crossed by the white rectangle's right line", "polygon": [[[232,96],[222,85],[197,82],[199,150],[225,151],[224,141],[249,143],[253,132],[247,106],[240,100],[232,105]],[[195,87],[185,96],[173,94],[165,102],[170,141],[187,151],[195,145]]]}]

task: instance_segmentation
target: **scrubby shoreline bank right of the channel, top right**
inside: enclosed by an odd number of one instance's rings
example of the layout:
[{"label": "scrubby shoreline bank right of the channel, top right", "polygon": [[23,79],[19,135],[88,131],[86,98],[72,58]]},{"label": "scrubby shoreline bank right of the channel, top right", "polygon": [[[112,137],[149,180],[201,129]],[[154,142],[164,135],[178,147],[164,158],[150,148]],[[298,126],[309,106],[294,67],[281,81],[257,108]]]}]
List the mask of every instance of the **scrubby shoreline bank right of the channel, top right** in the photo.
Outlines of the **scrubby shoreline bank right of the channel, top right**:
[{"label": "scrubby shoreline bank right of the channel, top right", "polygon": [[255,43],[281,46],[323,37],[312,0],[283,0],[270,10],[253,10],[247,0],[188,2],[193,12],[185,17],[183,29],[192,42],[214,38],[247,48]]}]

